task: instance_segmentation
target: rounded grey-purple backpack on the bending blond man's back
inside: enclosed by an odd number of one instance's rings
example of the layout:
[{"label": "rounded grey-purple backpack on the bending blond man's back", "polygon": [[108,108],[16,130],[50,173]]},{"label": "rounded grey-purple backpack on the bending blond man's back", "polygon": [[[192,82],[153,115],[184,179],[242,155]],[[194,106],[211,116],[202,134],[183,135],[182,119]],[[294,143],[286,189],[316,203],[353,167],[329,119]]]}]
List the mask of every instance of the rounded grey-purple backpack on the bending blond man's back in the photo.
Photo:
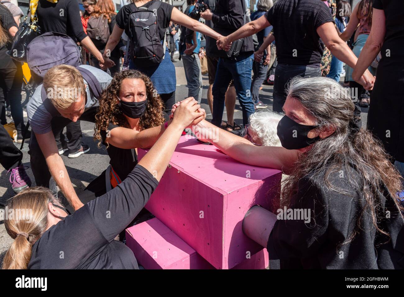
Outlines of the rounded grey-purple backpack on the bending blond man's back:
[{"label": "rounded grey-purple backpack on the bending blond man's back", "polygon": [[44,78],[46,72],[56,65],[80,65],[80,50],[72,38],[57,32],[46,32],[27,45],[29,69]]}]

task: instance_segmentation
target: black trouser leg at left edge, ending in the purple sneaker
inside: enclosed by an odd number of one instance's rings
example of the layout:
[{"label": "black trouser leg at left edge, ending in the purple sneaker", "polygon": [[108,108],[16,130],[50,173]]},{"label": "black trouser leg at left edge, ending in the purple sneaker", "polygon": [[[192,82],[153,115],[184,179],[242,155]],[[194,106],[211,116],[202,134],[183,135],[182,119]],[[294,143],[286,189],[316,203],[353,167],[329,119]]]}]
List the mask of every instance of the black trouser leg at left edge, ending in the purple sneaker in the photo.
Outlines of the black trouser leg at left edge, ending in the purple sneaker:
[{"label": "black trouser leg at left edge, ending in the purple sneaker", "polygon": [[0,164],[6,169],[12,169],[18,166],[23,158],[23,153],[14,145],[13,139],[0,125]]}]

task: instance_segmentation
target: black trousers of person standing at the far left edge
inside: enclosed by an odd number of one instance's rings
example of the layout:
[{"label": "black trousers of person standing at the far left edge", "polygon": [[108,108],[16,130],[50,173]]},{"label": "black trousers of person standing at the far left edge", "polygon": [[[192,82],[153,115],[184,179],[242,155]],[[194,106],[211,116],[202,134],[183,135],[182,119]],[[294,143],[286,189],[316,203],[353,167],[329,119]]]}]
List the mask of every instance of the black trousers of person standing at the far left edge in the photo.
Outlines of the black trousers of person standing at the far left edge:
[{"label": "black trousers of person standing at the far left edge", "polygon": [[[1,57],[10,59],[10,57]],[[0,119],[1,124],[6,124],[6,106],[8,100],[11,108],[11,116],[18,133],[24,128],[23,107],[21,106],[21,88],[23,84],[23,71],[21,63],[8,61],[6,68],[0,67]]]}]

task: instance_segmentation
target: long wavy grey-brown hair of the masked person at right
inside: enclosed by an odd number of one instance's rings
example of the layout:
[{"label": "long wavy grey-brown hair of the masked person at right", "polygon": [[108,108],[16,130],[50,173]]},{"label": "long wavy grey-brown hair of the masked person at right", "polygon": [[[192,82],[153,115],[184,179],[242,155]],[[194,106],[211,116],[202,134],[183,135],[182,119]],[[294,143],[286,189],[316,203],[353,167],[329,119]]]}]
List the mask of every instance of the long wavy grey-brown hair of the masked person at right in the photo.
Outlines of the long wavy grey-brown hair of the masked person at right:
[{"label": "long wavy grey-brown hair of the masked person at right", "polygon": [[[335,80],[325,77],[292,78],[287,90],[288,97],[299,101],[315,119],[319,129],[334,131],[328,137],[316,141],[310,150],[299,155],[292,172],[284,179],[280,204],[288,205],[296,194],[299,181],[309,176],[314,184],[324,185],[328,190],[351,196],[349,189],[360,191],[360,213],[355,214],[357,225],[353,232],[340,244],[353,240],[356,234],[366,232],[362,215],[369,215],[378,234],[389,236],[378,221],[383,217],[379,193],[386,185],[393,203],[398,209],[397,193],[402,190],[401,177],[389,161],[381,143],[369,131],[360,128],[353,132],[349,123],[354,120],[355,106],[347,89]],[[353,168],[358,174],[346,174],[343,188],[333,179],[341,169]],[[400,215],[400,212],[398,212]],[[368,232],[368,231],[367,231]]]}]

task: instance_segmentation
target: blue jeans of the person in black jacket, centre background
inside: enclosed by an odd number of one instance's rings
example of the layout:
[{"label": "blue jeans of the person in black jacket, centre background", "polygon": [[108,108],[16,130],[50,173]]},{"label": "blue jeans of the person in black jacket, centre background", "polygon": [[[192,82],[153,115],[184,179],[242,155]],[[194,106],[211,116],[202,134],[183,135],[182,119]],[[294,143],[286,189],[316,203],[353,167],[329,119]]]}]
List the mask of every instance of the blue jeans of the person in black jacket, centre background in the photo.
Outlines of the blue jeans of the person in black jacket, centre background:
[{"label": "blue jeans of the person in black jacket, centre background", "polygon": [[248,123],[248,117],[254,113],[254,103],[251,97],[251,70],[254,54],[241,53],[236,59],[219,58],[215,82],[213,83],[213,115],[212,124],[220,127],[225,106],[225,93],[231,80],[243,112],[243,124]]}]

